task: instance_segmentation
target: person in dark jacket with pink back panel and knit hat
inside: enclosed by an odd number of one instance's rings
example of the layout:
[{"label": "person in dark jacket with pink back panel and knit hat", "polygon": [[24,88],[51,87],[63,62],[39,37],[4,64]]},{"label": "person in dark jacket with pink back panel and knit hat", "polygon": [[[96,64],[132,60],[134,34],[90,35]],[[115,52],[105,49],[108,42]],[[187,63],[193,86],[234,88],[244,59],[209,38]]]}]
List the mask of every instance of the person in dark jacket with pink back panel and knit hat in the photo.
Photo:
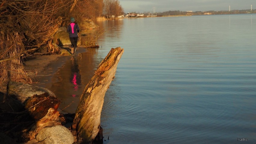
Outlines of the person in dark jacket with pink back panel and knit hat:
[{"label": "person in dark jacket with pink back panel and knit hat", "polygon": [[70,18],[70,24],[68,26],[67,32],[69,32],[69,39],[71,42],[71,53],[75,53],[77,48],[77,41],[78,41],[78,32],[79,32],[79,26],[75,22],[75,18]]}]

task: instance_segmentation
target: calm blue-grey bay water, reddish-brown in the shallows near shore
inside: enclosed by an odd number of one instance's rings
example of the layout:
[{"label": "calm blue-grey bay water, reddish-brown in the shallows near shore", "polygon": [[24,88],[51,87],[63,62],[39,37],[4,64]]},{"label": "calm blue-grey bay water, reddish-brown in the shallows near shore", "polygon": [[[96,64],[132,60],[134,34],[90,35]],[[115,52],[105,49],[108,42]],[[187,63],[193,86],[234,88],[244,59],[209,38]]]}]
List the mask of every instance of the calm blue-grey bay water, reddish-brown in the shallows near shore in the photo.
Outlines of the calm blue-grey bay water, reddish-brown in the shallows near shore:
[{"label": "calm blue-grey bay water, reddish-brown in the shallows near shore", "polygon": [[100,61],[122,47],[101,115],[104,144],[256,143],[255,14],[98,24],[102,48],[79,48],[46,88],[74,113]]}]

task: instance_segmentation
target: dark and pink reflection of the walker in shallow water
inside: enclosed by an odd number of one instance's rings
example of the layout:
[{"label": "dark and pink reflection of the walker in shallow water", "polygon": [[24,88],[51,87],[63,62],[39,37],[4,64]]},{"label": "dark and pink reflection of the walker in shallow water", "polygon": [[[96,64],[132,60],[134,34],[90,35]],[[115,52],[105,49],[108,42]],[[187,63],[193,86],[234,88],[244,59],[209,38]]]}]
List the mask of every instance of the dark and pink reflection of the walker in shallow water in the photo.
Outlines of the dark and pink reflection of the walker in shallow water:
[{"label": "dark and pink reflection of the walker in shallow water", "polygon": [[70,82],[74,84],[74,94],[72,94],[72,97],[75,97],[76,96],[75,91],[78,91],[78,85],[81,85],[81,75],[78,69],[78,64],[75,56],[71,58],[71,61],[72,61],[72,67],[71,67]]}]

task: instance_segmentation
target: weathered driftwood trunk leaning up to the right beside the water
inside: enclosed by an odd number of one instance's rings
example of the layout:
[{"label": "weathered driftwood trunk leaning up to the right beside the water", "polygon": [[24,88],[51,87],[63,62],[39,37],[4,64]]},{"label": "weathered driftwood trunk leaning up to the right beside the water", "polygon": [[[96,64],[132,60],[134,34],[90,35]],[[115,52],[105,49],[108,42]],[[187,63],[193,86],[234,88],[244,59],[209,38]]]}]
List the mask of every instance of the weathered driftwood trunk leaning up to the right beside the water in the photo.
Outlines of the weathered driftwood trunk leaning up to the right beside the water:
[{"label": "weathered driftwood trunk leaning up to the right beside the water", "polygon": [[120,47],[112,48],[84,88],[72,125],[78,133],[78,142],[90,144],[98,134],[105,92],[114,78],[122,54]]}]

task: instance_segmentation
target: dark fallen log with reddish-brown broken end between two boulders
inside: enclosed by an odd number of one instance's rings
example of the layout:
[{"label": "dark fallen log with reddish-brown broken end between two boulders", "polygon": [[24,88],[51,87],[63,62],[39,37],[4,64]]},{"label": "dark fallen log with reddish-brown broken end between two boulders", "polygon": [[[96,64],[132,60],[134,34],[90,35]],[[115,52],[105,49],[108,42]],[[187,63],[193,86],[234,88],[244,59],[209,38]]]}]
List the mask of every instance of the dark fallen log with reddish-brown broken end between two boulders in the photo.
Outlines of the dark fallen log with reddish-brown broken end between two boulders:
[{"label": "dark fallen log with reddish-brown broken end between two boulders", "polygon": [[[13,111],[2,109],[2,106],[7,105],[6,103]],[[26,99],[24,104],[6,96],[5,101],[1,103],[0,131],[17,139],[19,143],[35,139],[41,129],[61,125],[60,114],[57,111],[59,104],[60,101],[50,96],[48,92],[35,94]]]}]

